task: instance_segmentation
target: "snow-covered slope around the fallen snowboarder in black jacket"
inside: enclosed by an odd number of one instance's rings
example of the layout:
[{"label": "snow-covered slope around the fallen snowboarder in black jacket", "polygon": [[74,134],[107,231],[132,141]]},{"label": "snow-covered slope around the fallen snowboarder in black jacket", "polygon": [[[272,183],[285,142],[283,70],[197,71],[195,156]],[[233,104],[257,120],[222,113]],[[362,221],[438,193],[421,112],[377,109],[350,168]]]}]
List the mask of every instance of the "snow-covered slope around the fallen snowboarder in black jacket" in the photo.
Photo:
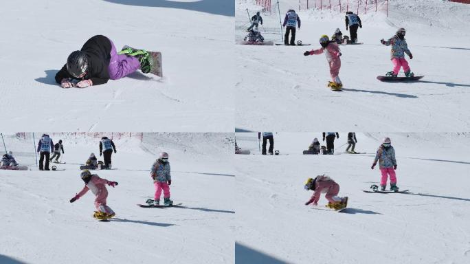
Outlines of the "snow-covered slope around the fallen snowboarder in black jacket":
[{"label": "snow-covered slope around the fallen snowboarder in black jacket", "polygon": [[[233,15],[231,0],[3,3],[0,122],[11,132],[26,124],[28,131],[232,131]],[[56,72],[96,34],[117,49],[162,52],[164,78],[138,71],[60,88]]]}]

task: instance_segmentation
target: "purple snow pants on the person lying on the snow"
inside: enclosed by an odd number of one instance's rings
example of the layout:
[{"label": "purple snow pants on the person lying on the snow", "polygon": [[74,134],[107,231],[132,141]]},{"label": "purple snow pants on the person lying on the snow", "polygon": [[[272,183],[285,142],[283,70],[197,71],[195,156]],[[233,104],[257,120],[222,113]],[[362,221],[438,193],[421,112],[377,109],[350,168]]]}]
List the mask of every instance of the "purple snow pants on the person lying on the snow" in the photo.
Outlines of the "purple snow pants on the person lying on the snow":
[{"label": "purple snow pants on the person lying on the snow", "polygon": [[111,80],[124,78],[128,74],[140,69],[140,62],[137,58],[125,54],[117,54],[113,41],[111,42],[111,59],[109,60],[108,72]]}]

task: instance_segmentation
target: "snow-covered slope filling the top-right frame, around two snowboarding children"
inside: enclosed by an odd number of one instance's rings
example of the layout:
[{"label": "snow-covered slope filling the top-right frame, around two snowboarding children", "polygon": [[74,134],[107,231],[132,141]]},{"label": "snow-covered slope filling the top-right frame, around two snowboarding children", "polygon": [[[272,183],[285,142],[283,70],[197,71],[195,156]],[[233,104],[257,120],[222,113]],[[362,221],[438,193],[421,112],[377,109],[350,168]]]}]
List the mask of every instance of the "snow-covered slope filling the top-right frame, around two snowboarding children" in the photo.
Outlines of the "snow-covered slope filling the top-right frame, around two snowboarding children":
[{"label": "snow-covered slope filling the top-right frame, around two snowboarding children", "polygon": [[[334,2],[334,1],[332,1]],[[247,10],[253,1],[236,3],[236,39],[246,34]],[[282,19],[298,1],[280,1]],[[342,45],[339,76],[344,91],[333,93],[324,55],[303,56],[320,47],[322,34],[336,28],[346,33],[344,13],[329,10],[299,12],[302,28],[296,39],[306,47],[236,45],[236,127],[251,131],[467,131],[470,128],[470,5],[447,1],[390,1],[384,12],[359,14],[363,45]],[[281,42],[277,6],[264,13],[260,28],[267,41]],[[390,38],[397,28],[407,29],[409,60],[416,83],[381,83],[376,76],[392,69]],[[267,33],[264,33],[266,30]],[[275,34],[277,33],[277,34]],[[401,73],[403,74],[403,72]]]}]

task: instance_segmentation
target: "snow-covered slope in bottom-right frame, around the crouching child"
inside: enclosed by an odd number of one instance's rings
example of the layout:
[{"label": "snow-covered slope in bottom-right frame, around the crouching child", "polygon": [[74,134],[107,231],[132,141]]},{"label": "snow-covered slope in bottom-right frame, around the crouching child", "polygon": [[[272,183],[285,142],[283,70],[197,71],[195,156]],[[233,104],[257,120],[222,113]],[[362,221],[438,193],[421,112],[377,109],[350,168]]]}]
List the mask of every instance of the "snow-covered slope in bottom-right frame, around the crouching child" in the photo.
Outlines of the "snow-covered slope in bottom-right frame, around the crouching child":
[{"label": "snow-covered slope in bottom-right frame, around the crouching child", "polygon": [[[361,191],[379,181],[370,165],[384,136],[410,194]],[[340,132],[337,155],[302,155],[313,137],[275,133],[288,155],[236,155],[236,263],[469,263],[469,133],[357,133],[356,150],[372,154],[348,155]],[[323,173],[349,197],[344,213],[320,210],[324,195],[304,206],[304,181]]]}]

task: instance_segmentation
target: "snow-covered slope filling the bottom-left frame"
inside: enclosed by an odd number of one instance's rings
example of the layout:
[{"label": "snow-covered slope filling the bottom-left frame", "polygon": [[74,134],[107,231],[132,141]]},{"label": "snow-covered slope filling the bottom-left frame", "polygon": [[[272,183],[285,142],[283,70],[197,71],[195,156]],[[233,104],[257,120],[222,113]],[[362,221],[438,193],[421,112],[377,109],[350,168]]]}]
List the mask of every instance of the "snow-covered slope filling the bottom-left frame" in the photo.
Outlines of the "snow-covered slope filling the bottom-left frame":
[{"label": "snow-covered slope filling the bottom-left frame", "polygon": [[[0,262],[234,263],[231,137],[146,133],[144,142],[115,140],[117,170],[96,171],[119,182],[108,187],[116,217],[102,223],[91,217],[91,192],[69,203],[83,187],[78,164],[91,151],[98,156],[98,139],[56,135],[67,162],[57,166],[65,170],[0,170]],[[159,151],[170,155],[171,198],[183,208],[135,205],[153,198],[149,169]]]}]

